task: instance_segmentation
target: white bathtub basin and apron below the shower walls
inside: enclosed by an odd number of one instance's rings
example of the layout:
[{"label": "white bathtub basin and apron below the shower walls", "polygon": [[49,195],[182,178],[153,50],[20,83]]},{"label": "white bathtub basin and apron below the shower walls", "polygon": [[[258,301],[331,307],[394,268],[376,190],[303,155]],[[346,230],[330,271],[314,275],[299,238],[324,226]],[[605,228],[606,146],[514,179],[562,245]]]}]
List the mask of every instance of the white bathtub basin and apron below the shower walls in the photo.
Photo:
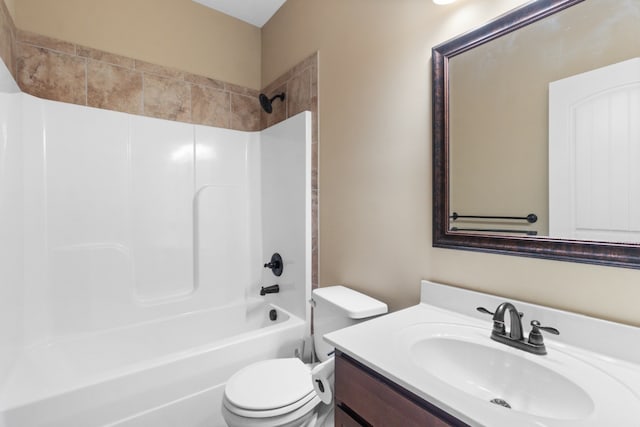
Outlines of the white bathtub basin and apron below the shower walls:
[{"label": "white bathtub basin and apron below the shower walls", "polygon": [[34,345],[0,390],[0,426],[224,426],[226,380],[292,356],[305,332],[303,319],[254,300]]}]

